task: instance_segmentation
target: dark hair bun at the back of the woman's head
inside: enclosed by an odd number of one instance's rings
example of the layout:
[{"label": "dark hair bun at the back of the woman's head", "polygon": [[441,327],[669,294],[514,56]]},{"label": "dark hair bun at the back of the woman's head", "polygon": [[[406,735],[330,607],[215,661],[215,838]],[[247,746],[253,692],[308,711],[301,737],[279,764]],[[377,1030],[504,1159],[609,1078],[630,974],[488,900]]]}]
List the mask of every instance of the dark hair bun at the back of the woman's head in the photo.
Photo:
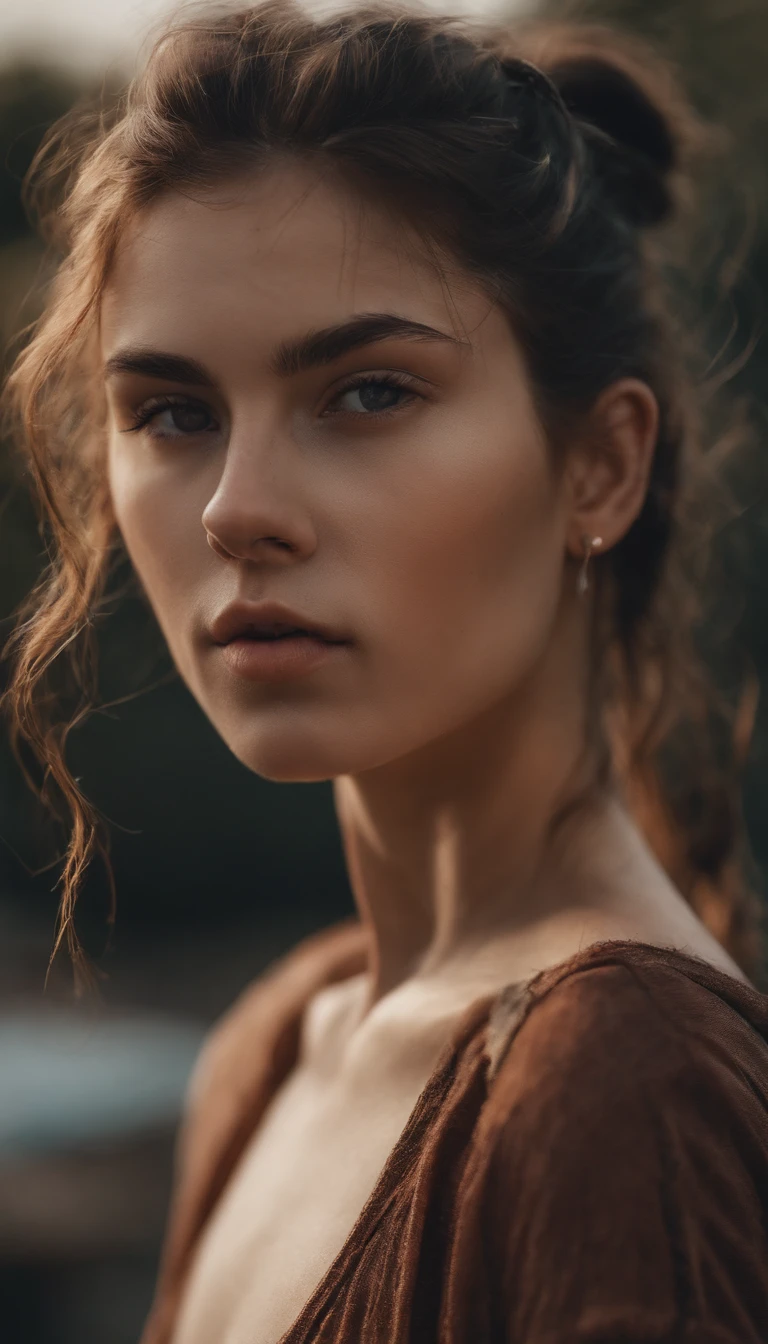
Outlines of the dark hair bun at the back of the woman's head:
[{"label": "dark hair bun at the back of the woman's head", "polygon": [[581,122],[597,172],[617,208],[638,226],[674,210],[667,175],[678,153],[668,118],[650,94],[605,56],[580,55],[547,71]]}]

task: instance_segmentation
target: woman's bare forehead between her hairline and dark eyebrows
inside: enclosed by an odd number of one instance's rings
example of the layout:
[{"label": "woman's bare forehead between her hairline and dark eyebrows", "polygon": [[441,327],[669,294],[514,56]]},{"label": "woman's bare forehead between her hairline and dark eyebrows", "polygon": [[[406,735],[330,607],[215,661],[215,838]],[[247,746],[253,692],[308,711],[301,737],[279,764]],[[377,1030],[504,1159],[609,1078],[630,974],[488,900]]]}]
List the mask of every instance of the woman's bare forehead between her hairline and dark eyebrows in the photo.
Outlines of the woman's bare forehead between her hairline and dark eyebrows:
[{"label": "woman's bare forehead between her hairline and dark eyebrows", "polygon": [[397,312],[471,337],[491,306],[402,220],[319,171],[282,165],[195,196],[167,192],[143,211],[118,245],[101,332],[105,345],[178,344],[182,329],[272,341],[351,312]]}]

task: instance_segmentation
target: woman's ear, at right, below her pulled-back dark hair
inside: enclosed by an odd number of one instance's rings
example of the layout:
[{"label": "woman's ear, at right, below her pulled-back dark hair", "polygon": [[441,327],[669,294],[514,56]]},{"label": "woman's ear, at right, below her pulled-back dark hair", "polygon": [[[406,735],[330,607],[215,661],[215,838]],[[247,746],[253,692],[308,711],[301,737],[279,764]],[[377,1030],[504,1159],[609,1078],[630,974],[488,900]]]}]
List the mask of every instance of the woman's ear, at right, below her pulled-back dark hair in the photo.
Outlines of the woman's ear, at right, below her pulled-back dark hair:
[{"label": "woman's ear, at right, below her pulled-back dark hair", "polygon": [[605,387],[584,433],[569,450],[568,550],[584,555],[584,538],[601,538],[600,554],[620,542],[638,517],[659,430],[659,403],[647,383],[621,378]]}]

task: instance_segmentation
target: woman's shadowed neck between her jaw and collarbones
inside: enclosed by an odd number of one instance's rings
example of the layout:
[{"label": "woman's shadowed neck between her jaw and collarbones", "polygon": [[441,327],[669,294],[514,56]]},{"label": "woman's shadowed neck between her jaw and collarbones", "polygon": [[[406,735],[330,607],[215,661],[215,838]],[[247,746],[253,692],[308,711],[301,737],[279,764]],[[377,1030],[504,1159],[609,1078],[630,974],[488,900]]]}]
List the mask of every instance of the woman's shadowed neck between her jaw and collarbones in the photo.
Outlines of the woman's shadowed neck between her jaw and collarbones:
[{"label": "woman's shadowed neck between her jaw and collarbones", "polygon": [[589,805],[564,828],[576,844],[553,843],[551,820],[582,758],[580,652],[550,649],[514,695],[455,732],[334,781],[371,935],[369,1007],[416,974],[460,974],[577,899],[580,828],[593,832],[613,806]]}]

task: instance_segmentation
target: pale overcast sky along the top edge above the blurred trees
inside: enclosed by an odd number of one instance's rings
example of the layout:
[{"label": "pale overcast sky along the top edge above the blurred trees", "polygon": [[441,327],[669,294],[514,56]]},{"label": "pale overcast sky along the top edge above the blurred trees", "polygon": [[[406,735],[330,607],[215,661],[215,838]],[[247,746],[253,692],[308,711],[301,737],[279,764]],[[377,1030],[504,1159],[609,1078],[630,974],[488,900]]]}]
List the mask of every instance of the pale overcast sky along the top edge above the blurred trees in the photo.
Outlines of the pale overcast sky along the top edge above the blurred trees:
[{"label": "pale overcast sky along the top edge above the blurred trees", "polygon": [[[507,12],[514,0],[434,0],[444,12]],[[132,62],[151,28],[176,0],[0,0],[0,51],[19,51],[104,70]]]}]

